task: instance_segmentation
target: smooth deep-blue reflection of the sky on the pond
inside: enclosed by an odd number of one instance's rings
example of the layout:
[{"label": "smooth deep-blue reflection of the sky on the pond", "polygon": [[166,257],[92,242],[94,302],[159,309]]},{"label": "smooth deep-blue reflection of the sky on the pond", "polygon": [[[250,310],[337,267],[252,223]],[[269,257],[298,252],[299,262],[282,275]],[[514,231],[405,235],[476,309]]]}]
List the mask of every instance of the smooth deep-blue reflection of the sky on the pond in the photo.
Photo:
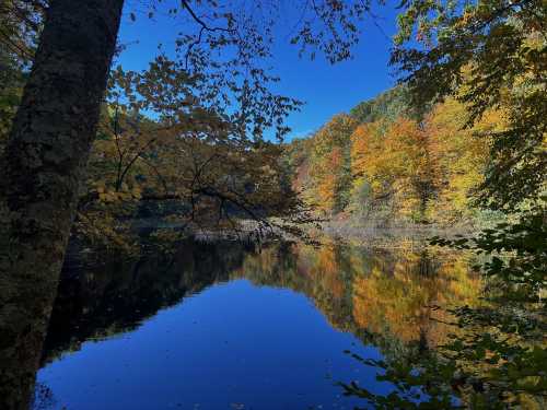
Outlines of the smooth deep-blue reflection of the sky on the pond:
[{"label": "smooth deep-blue reflection of the sky on the pond", "polygon": [[[236,280],[161,311],[135,331],[86,342],[38,373],[55,408],[350,409],[335,380],[375,386],[379,358],[289,290]],[[361,407],[362,401],[358,402]]]}]

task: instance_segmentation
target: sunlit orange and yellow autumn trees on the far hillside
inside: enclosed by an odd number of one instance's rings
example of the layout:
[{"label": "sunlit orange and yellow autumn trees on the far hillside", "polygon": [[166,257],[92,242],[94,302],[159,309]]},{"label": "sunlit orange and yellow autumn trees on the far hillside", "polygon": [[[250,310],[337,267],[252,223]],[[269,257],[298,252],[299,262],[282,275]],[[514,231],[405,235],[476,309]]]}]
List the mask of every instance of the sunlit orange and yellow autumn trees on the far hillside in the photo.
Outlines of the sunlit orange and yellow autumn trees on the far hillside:
[{"label": "sunlit orange and yellow autumn trees on the far hillside", "polygon": [[[424,112],[424,113],[423,113]],[[455,98],[420,113],[403,86],[333,117],[287,145],[293,187],[327,216],[353,223],[468,224],[489,216],[474,207],[501,109],[473,127]]]}]

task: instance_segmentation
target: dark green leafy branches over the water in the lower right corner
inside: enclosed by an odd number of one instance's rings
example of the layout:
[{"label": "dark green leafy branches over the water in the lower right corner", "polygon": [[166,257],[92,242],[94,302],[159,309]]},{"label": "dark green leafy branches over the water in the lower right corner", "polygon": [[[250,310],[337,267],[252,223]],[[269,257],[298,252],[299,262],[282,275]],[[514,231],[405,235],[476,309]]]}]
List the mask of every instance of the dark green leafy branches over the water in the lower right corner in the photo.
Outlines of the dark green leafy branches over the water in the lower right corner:
[{"label": "dark green leafy branches over the water in the lower right corner", "polygon": [[[525,212],[514,223],[499,224],[477,237],[445,239],[432,245],[488,255],[486,303],[455,306],[449,312],[456,330],[434,351],[408,358],[409,364],[364,361],[383,368],[379,379],[394,384],[389,396],[379,396],[354,384],[346,394],[379,408],[522,408],[545,405],[547,397],[547,224],[545,207]],[[477,267],[477,269],[480,267]],[[534,408],[534,407],[532,407]]]}]

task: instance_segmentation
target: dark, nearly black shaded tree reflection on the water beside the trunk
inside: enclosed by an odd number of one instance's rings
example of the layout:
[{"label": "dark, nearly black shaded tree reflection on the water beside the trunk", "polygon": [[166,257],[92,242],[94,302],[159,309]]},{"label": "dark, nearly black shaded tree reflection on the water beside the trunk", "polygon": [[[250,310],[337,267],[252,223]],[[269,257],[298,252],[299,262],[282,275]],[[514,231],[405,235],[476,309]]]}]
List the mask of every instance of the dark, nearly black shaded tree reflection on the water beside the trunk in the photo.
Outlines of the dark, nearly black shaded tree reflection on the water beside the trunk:
[{"label": "dark, nearly black shaded tree reflection on the water beside the trunk", "polygon": [[136,329],[185,295],[228,281],[253,245],[187,241],[174,255],[106,261],[71,256],[61,272],[42,362],[74,351],[86,340]]}]

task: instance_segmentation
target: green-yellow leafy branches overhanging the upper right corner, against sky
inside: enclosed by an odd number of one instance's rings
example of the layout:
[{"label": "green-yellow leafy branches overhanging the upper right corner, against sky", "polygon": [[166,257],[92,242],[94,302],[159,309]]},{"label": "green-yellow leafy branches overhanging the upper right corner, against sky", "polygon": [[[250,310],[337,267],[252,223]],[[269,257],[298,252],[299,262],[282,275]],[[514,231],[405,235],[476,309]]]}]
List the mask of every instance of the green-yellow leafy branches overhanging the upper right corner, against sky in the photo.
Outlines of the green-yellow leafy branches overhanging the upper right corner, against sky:
[{"label": "green-yellow leafy branches overhanging the upper right corner, against sky", "polygon": [[[479,202],[513,210],[545,189],[547,165],[547,5],[522,1],[404,1],[392,63],[405,75],[412,105],[455,95],[473,126],[504,107]],[[410,39],[415,37],[420,46]]]}]

